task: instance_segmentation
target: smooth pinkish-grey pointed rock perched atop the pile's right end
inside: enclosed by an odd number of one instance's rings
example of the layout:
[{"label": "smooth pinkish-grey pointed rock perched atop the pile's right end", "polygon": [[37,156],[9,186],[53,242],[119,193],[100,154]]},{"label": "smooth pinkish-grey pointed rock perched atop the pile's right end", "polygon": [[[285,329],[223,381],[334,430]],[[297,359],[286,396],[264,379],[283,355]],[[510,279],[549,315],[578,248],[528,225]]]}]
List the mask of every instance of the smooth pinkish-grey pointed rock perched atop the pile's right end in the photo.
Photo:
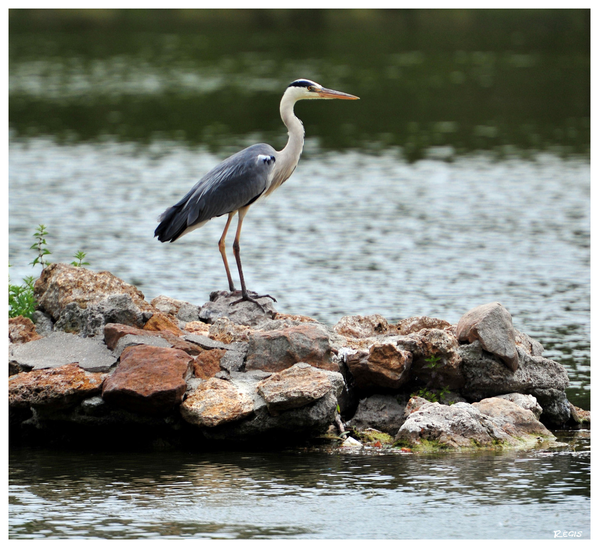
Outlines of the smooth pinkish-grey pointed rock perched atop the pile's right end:
[{"label": "smooth pinkish-grey pointed rock perched atop the pile's right end", "polygon": [[518,370],[512,316],[499,302],[468,310],[456,326],[456,335],[459,341],[480,341],[483,349],[500,358],[512,371]]}]

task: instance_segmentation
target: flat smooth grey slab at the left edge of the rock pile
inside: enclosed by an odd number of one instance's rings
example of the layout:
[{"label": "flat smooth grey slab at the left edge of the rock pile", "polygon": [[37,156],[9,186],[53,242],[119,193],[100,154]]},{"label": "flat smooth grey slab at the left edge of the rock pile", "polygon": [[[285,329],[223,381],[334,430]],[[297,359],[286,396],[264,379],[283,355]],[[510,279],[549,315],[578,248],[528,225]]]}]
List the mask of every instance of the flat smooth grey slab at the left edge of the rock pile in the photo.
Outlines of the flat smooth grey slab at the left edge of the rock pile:
[{"label": "flat smooth grey slab at the left edge of the rock pile", "polygon": [[93,373],[103,373],[116,364],[116,358],[100,340],[59,331],[31,343],[13,345],[9,359],[34,370],[78,363]]}]

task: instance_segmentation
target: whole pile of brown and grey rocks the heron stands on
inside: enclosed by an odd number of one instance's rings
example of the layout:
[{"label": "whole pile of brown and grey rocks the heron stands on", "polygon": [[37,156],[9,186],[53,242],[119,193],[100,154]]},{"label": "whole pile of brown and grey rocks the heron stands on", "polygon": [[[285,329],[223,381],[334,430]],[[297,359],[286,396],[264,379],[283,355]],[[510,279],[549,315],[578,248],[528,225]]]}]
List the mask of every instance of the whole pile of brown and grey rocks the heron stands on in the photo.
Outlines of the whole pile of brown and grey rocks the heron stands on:
[{"label": "whole pile of brown and grey rocks the heron stands on", "polygon": [[10,440],[97,446],[540,447],[590,423],[568,375],[498,302],[457,325],[378,314],[326,326],[268,298],[202,306],[52,264],[9,320]]}]

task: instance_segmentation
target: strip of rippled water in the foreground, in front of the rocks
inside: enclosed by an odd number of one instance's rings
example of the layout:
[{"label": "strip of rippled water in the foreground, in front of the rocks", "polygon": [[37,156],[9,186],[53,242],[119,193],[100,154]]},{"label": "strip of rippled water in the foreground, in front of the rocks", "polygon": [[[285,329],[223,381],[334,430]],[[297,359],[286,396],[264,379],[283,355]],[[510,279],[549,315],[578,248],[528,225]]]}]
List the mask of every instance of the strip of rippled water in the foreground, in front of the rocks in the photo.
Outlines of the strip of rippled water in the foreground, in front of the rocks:
[{"label": "strip of rippled water in the foreground, in front of the rocks", "polygon": [[590,438],[561,440],[445,456],[13,449],[9,535],[589,538]]}]

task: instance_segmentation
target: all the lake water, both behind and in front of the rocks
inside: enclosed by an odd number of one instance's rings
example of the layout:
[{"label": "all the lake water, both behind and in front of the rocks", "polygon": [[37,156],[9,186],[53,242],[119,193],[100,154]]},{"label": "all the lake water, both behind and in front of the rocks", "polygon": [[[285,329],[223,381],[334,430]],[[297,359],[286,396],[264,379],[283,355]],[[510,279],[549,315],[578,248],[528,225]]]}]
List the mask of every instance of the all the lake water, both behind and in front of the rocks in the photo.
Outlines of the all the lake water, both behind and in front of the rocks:
[{"label": "all the lake water, both behind and in front of the rocks", "polygon": [[[304,155],[244,220],[249,289],[328,325],[457,322],[499,301],[590,407],[589,10],[9,21],[13,283],[39,275],[43,223],[53,262],[83,250],[148,300],[226,289],[225,219],[162,244],[156,217],[240,148],[283,147],[280,96],[311,78],[361,100],[297,105]],[[13,447],[9,535],[588,538],[590,434],[560,435],[555,450],[441,456]]]}]

